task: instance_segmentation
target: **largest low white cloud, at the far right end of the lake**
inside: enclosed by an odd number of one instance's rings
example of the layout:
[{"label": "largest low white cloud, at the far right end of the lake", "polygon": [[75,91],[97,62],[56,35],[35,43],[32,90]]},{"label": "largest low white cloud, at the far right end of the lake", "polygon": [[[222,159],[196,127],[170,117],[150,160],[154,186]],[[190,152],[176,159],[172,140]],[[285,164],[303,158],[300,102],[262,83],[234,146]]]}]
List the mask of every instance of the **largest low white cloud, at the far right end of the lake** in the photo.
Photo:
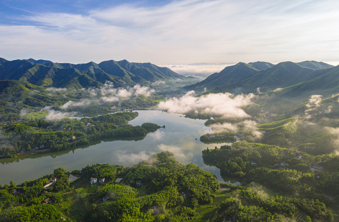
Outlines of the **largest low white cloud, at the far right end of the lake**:
[{"label": "largest low white cloud, at the far right end of the lake", "polygon": [[249,115],[241,106],[251,103],[253,94],[234,96],[230,93],[208,94],[200,97],[193,96],[189,91],[181,98],[171,98],[160,102],[158,108],[173,113],[202,113],[226,118],[245,118]]}]

